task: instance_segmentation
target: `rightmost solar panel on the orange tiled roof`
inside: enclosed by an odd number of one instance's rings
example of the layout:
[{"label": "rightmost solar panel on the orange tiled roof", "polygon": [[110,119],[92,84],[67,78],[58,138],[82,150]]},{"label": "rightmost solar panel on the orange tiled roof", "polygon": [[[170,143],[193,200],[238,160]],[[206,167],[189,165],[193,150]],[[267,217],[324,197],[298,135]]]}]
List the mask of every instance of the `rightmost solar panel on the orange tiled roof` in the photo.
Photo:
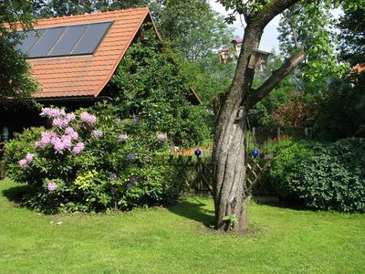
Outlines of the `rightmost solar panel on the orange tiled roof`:
[{"label": "rightmost solar panel on the orange tiled roof", "polygon": [[71,55],[93,53],[110,27],[110,24],[111,22],[90,24],[78,45],[72,50]]}]

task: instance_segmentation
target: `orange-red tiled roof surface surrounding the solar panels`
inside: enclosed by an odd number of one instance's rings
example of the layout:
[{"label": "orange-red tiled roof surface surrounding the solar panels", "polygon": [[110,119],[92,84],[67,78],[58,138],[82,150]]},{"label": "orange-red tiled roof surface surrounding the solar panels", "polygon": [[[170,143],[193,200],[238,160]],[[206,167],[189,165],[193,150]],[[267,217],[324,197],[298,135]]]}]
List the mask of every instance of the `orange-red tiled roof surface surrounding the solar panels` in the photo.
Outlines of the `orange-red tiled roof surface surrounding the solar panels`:
[{"label": "orange-red tiled roof surface surrounding the solar panels", "polygon": [[41,84],[36,98],[97,97],[109,82],[146,17],[147,7],[81,16],[38,20],[35,26],[72,26],[113,20],[109,31],[92,56],[28,59],[32,73]]}]

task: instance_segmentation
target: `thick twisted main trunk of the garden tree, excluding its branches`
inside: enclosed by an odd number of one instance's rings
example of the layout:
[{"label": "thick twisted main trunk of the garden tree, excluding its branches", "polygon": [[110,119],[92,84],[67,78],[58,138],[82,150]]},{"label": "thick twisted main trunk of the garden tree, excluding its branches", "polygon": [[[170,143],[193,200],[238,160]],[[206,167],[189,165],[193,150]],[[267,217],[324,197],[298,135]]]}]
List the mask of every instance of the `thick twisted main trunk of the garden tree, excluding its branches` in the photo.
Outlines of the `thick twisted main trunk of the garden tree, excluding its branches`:
[{"label": "thick twisted main trunk of the garden tree, excluding its branches", "polygon": [[[215,227],[244,231],[245,196],[245,128],[246,99],[255,71],[247,68],[251,53],[258,47],[263,28],[246,26],[245,43],[237,61],[235,79],[229,93],[222,98],[214,132],[214,207]],[[229,218],[229,220],[224,220]]]}]

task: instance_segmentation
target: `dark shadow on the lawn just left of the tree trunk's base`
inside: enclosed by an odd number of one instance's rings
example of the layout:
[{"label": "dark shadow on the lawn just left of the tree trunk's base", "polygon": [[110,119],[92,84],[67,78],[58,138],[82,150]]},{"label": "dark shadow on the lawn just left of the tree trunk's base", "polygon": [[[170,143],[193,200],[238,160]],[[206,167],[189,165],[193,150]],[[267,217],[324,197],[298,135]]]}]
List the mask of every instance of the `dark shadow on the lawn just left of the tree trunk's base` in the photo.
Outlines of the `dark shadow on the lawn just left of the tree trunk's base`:
[{"label": "dark shadow on the lawn just left of the tree trunk's base", "polygon": [[[192,202],[192,200],[195,201]],[[190,198],[171,205],[168,209],[176,215],[202,223],[205,227],[212,227],[214,226],[214,210],[206,209],[204,206],[206,205],[198,199]]]}]

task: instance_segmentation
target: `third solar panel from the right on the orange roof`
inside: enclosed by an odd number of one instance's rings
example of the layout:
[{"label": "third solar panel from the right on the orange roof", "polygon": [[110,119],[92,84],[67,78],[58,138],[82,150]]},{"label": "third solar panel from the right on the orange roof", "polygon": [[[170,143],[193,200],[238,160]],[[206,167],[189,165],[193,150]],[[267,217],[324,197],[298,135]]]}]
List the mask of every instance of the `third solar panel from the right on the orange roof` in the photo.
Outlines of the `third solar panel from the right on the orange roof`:
[{"label": "third solar panel from the right on the orange roof", "polygon": [[30,58],[47,57],[49,50],[65,32],[66,26],[47,28],[42,37],[36,41],[36,45],[29,51]]}]

